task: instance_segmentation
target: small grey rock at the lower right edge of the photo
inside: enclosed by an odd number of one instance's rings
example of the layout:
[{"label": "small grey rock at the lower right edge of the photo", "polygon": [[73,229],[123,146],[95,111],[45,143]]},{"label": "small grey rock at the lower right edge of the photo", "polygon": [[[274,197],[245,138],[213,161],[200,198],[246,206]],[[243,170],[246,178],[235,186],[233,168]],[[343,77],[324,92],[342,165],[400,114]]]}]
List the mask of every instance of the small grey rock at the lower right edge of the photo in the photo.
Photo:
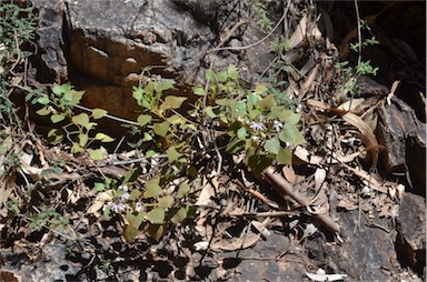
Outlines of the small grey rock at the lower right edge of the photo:
[{"label": "small grey rock at the lower right edge of the photo", "polygon": [[404,266],[419,276],[426,271],[426,201],[423,197],[405,193],[398,222],[396,249]]}]

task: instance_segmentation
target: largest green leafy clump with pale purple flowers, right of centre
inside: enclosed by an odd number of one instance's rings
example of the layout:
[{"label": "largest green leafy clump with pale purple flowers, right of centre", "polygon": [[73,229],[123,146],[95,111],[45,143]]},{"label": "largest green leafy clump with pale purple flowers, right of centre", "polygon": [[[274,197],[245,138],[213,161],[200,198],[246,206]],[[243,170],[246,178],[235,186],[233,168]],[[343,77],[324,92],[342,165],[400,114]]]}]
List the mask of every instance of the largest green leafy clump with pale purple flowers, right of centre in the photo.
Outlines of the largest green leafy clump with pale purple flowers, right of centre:
[{"label": "largest green leafy clump with pale purple flowers, right of centre", "polygon": [[[275,95],[264,84],[246,90],[239,84],[239,70],[229,66],[227,71],[208,70],[206,95],[211,105],[205,113],[227,127],[229,153],[245,151],[245,163],[255,172],[261,172],[272,161],[289,164],[294,145],[305,142],[298,129],[300,114],[279,105]],[[202,87],[196,93],[203,93]]]}]

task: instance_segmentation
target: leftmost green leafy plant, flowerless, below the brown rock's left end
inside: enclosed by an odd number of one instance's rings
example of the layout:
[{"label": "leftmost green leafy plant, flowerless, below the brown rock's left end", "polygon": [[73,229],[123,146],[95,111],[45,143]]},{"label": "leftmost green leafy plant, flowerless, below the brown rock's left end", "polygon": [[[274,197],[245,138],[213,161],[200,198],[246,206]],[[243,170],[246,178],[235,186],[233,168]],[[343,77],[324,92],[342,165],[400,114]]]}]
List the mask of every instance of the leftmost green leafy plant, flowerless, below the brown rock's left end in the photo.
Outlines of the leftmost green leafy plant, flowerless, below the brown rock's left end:
[{"label": "leftmost green leafy plant, flowerless, below the brown rock's left end", "polygon": [[[107,114],[106,110],[93,109],[91,114],[75,113],[75,107],[80,103],[85,91],[77,91],[70,84],[53,84],[50,95],[34,98],[39,104],[43,105],[37,111],[39,115],[50,115],[52,123],[68,122],[61,128],[51,129],[48,139],[52,144],[58,144],[66,137],[72,142],[71,153],[81,153],[92,142],[111,142],[112,138],[105,133],[92,134],[97,123],[95,120],[101,119]],[[102,159],[102,150],[97,149],[90,153],[93,160]]]}]

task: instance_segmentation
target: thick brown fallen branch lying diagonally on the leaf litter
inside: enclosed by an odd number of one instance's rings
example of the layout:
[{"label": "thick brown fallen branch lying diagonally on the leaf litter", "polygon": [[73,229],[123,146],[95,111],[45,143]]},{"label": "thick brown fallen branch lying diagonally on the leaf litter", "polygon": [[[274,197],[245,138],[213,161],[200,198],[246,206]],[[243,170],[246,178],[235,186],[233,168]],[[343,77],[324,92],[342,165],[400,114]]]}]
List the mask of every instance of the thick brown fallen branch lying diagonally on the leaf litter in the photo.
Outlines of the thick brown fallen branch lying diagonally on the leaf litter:
[{"label": "thick brown fallen branch lying diagonally on the leaf litter", "polygon": [[[282,195],[287,194],[304,207],[310,205],[310,200],[305,198],[295,191],[292,184],[290,184],[285,178],[276,173],[272,167],[269,167],[264,173],[264,177],[271,183],[271,185]],[[320,223],[331,232],[339,232],[339,225],[328,214],[312,214]]]}]

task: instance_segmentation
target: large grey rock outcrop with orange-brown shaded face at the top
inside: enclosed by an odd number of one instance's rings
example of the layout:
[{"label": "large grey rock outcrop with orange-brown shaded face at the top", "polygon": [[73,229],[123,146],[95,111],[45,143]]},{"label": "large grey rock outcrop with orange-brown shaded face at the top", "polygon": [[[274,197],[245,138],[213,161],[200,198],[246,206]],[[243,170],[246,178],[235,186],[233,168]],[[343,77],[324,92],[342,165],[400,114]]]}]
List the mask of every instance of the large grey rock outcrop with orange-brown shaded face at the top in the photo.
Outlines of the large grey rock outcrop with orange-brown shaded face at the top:
[{"label": "large grey rock outcrop with orange-brown shaded face at the top", "polygon": [[[180,1],[180,0],[70,0],[48,3],[32,0],[44,11],[41,14],[40,38],[54,26],[51,44],[41,46],[41,60],[56,80],[70,80],[86,90],[83,103],[105,108],[121,118],[135,119],[137,105],[131,87],[138,84],[141,69],[151,67],[151,73],[173,79],[175,92],[188,94],[191,85],[203,82],[203,73],[211,60],[214,68],[224,69],[235,63],[245,79],[252,80],[269,60],[268,41],[240,51],[208,53],[227,32],[248,12],[240,1]],[[54,22],[44,18],[54,14]],[[66,19],[61,16],[66,14]],[[58,30],[63,21],[63,30]],[[244,29],[245,28],[245,29]],[[60,34],[64,34],[63,38]],[[265,36],[255,26],[242,24],[230,37],[237,46],[252,43]],[[62,44],[62,41],[66,44]],[[224,42],[228,44],[227,42]],[[67,68],[63,60],[67,58]],[[68,71],[67,71],[68,70]]]}]

